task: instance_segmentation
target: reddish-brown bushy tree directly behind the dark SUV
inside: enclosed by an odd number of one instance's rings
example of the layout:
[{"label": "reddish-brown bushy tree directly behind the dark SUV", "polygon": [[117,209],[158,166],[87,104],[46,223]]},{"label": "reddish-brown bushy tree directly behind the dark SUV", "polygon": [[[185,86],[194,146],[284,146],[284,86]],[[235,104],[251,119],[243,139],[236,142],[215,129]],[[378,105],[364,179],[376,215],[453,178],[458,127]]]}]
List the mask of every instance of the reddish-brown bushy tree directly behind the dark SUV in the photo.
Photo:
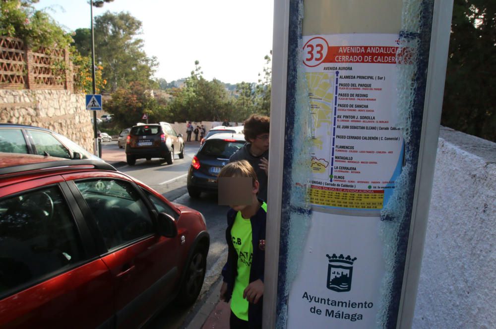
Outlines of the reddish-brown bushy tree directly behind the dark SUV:
[{"label": "reddish-brown bushy tree directly behind the dark SUV", "polygon": [[113,121],[121,128],[130,127],[142,121],[146,113],[150,122],[171,121],[174,119],[168,112],[165,99],[155,99],[147,86],[135,81],[129,88],[119,88],[112,98],[105,102],[104,109],[114,115]]}]

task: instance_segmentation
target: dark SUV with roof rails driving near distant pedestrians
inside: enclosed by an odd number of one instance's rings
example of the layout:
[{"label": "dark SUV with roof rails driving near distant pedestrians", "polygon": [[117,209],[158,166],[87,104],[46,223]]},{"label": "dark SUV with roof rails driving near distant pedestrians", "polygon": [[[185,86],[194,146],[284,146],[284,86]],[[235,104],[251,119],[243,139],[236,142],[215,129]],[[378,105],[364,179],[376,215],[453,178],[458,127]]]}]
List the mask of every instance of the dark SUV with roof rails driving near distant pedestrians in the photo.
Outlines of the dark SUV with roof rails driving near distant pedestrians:
[{"label": "dark SUV with roof rails driving near distant pedestrians", "polygon": [[158,124],[138,124],[133,126],[127,136],[125,155],[127,164],[133,166],[136,159],[163,158],[167,164],[174,162],[174,155],[180,159],[185,156],[183,135],[178,134],[166,122]]}]

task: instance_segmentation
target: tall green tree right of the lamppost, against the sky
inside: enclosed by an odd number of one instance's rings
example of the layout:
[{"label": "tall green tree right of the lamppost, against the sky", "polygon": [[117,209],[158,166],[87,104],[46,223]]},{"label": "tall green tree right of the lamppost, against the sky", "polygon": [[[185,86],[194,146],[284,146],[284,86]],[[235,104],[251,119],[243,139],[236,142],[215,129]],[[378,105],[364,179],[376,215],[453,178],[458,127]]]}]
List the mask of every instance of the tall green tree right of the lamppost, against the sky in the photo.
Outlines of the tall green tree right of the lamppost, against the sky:
[{"label": "tall green tree right of the lamppost, against the sky", "polygon": [[[158,66],[155,57],[147,57],[143,51],[141,21],[128,12],[118,14],[107,11],[95,17],[95,58],[103,66],[103,78],[107,80],[107,92],[126,88],[139,81],[147,87],[155,86],[152,75]],[[76,47],[78,44],[76,44]]]}]

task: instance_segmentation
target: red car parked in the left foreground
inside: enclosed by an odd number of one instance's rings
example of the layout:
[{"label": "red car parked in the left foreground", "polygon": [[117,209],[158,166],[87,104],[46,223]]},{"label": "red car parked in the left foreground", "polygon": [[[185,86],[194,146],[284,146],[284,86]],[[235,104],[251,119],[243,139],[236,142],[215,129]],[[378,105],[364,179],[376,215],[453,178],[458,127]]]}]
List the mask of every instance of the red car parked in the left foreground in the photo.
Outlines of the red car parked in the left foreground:
[{"label": "red car parked in the left foreground", "polygon": [[94,160],[0,153],[0,328],[136,328],[192,304],[201,213]]}]

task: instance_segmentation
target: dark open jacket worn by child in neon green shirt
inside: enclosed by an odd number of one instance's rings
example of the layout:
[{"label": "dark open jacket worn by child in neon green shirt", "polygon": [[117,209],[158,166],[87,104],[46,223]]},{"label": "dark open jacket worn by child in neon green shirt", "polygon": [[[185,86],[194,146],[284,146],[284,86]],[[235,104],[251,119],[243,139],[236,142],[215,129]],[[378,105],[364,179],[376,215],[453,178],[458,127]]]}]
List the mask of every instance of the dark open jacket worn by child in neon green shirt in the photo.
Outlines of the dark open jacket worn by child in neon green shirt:
[{"label": "dark open jacket worn by child in neon green shirt", "polygon": [[[262,202],[261,199],[258,199]],[[222,269],[222,276],[224,277],[224,282],[227,283],[227,296],[229,299],[233,294],[234,280],[238,274],[238,254],[236,249],[234,249],[233,240],[231,238],[231,229],[234,225],[234,220],[236,219],[237,211],[234,209],[229,209],[227,212],[227,229],[226,229],[226,242],[228,246],[227,263]],[[260,207],[257,213],[250,218],[251,223],[251,243],[253,245],[253,260],[251,262],[251,268],[249,272],[249,282],[256,281],[258,279],[263,282],[263,270],[265,263],[265,251],[258,247],[258,241],[260,239],[265,240],[265,222],[266,222],[266,212]],[[250,329],[262,328],[262,305],[263,297],[258,300],[258,303],[248,304],[248,326]]]}]

